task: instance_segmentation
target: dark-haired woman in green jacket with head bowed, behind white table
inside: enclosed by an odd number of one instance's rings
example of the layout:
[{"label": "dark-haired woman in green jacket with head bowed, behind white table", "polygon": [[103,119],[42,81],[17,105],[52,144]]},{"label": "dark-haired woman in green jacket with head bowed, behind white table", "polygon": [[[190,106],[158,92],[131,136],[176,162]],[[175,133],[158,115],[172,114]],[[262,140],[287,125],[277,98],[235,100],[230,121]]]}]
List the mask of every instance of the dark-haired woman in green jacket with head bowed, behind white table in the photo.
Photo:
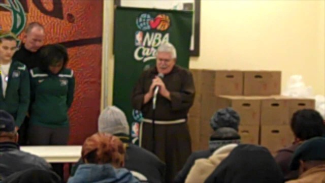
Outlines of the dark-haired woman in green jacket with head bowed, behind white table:
[{"label": "dark-haired woman in green jacket with head bowed, behind white table", "polygon": [[68,110],[74,98],[75,77],[68,52],[59,44],[40,50],[41,66],[30,70],[31,109],[28,139],[31,145],[66,145]]}]

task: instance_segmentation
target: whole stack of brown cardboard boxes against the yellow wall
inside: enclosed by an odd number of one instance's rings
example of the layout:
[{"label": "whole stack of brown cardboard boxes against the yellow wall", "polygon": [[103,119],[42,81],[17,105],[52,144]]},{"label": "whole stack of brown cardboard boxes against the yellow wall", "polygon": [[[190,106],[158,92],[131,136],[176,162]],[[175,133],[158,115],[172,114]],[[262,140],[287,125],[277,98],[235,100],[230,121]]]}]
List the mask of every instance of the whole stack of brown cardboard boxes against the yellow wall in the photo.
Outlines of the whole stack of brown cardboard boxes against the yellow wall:
[{"label": "whole stack of brown cardboard boxes against the yellow wall", "polygon": [[294,136],[289,121],[294,112],[314,108],[312,99],[280,96],[279,71],[191,70],[196,98],[189,111],[192,149],[207,149],[214,112],[232,107],[241,117],[242,143],[261,144],[271,153],[289,145]]}]

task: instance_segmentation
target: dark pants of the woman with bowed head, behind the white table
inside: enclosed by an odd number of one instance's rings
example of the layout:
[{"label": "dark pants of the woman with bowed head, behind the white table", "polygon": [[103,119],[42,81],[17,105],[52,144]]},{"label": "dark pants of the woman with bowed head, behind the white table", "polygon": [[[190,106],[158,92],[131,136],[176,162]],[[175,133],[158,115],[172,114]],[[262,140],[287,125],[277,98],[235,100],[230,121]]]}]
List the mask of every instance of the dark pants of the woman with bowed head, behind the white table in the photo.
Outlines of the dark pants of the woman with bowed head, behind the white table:
[{"label": "dark pants of the woman with bowed head, behind the white table", "polygon": [[[69,140],[69,127],[49,128],[39,125],[30,125],[28,140],[30,145],[67,145]],[[62,182],[64,180],[63,163],[51,163],[53,171],[57,173]]]}]

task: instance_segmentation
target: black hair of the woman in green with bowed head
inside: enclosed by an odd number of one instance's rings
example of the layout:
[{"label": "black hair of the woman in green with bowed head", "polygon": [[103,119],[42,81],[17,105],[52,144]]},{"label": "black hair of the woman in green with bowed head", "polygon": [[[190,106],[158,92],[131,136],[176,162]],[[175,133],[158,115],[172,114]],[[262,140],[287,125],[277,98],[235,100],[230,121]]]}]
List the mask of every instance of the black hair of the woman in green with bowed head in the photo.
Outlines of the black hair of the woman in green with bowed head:
[{"label": "black hair of the woman in green with bowed head", "polygon": [[67,48],[61,44],[49,44],[45,45],[40,50],[40,69],[42,71],[48,71],[49,66],[55,65],[61,61],[63,61],[62,69],[67,67],[69,56]]}]

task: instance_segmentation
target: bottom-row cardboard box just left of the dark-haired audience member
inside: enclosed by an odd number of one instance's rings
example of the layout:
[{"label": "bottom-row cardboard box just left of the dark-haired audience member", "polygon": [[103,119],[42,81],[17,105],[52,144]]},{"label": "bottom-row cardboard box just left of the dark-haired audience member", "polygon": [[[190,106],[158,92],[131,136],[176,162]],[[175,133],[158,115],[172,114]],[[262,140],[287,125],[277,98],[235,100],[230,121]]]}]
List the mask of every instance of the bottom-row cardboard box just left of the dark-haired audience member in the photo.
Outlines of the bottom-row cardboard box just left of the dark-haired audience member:
[{"label": "bottom-row cardboard box just left of the dark-haired audience member", "polygon": [[261,145],[267,147],[273,154],[289,146],[293,141],[294,135],[289,126],[261,127]]}]

